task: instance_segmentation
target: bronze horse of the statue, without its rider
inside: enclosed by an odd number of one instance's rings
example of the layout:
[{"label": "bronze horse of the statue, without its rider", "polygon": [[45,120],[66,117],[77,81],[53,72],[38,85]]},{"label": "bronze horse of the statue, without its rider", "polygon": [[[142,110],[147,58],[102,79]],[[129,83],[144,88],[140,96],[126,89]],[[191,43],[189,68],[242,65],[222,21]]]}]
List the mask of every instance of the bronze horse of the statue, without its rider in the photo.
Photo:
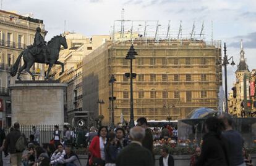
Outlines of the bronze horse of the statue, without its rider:
[{"label": "bronze horse of the statue, without its rider", "polygon": [[[49,58],[49,63],[48,63],[48,71],[46,73],[46,79],[49,77],[49,72],[51,71],[51,68],[53,67],[53,64],[56,65],[61,65],[62,71],[59,73],[60,75],[64,73],[64,64],[61,61],[58,61],[59,59],[59,50],[61,49],[61,45],[64,47],[64,49],[67,49],[67,41],[65,36],[59,35],[59,36],[54,36],[48,44],[45,46],[45,49],[48,49],[48,58]],[[19,63],[20,59],[23,55],[23,61],[24,65],[22,65],[19,68]],[[17,76],[17,79],[20,79],[20,73],[25,69],[27,73],[29,73],[32,76],[32,79],[35,80],[35,76],[33,73],[30,71],[30,68],[33,66],[34,63],[45,63],[45,56],[42,53],[39,53],[37,55],[33,55],[30,52],[30,49],[25,49],[23,50],[17,60],[14,63],[14,66],[12,66],[11,69],[11,76],[14,77],[18,71],[19,68],[19,73]]]}]

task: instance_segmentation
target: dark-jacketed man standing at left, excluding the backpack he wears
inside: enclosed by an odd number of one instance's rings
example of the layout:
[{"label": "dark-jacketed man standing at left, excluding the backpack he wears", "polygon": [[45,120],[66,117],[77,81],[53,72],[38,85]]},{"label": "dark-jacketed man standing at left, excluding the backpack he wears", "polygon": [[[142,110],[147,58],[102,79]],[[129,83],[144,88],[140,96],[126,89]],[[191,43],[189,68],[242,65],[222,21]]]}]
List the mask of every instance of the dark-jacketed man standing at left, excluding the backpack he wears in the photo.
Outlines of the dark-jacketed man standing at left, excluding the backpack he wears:
[{"label": "dark-jacketed man standing at left, excluding the backpack he wears", "polygon": [[19,140],[20,133],[20,124],[15,122],[14,130],[7,134],[6,142],[4,144],[4,148],[7,149],[7,152],[11,154],[11,163],[12,165],[21,165],[22,162],[22,151],[17,151],[15,148],[16,142]]}]

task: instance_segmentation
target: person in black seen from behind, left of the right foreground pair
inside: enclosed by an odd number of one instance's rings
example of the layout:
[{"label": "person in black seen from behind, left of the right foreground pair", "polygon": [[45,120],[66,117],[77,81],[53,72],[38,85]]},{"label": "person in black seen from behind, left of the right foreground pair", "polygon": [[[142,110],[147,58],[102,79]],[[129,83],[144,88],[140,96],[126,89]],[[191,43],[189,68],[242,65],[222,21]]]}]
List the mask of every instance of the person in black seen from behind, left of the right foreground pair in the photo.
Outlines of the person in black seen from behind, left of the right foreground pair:
[{"label": "person in black seen from behind, left of the right foreground pair", "polygon": [[217,117],[208,117],[205,121],[202,152],[196,165],[228,166],[228,141],[221,135],[224,125]]}]

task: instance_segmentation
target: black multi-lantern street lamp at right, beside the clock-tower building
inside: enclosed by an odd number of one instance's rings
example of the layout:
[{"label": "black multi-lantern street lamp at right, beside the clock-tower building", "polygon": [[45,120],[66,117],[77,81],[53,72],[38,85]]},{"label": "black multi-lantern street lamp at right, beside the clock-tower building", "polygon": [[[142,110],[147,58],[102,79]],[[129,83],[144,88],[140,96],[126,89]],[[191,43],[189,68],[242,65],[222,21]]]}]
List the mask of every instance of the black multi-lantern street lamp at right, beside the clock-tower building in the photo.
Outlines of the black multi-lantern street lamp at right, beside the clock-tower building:
[{"label": "black multi-lantern street lamp at right, beside the clock-tower building", "polygon": [[224,42],[224,58],[223,58],[223,63],[222,63],[222,66],[224,66],[224,77],[225,77],[225,97],[226,97],[226,113],[228,113],[228,77],[227,77],[227,65],[229,64],[229,60],[232,59],[232,62],[230,65],[234,66],[236,65],[234,63],[234,59],[233,57],[231,58],[228,58],[228,55],[226,55],[226,42]]}]

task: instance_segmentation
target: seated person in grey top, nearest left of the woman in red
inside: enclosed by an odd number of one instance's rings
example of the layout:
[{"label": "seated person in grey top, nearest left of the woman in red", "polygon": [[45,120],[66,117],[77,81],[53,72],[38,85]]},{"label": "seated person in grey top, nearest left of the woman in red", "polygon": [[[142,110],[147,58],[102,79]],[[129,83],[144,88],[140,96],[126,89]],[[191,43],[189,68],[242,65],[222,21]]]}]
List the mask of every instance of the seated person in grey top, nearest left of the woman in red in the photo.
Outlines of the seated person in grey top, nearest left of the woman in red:
[{"label": "seated person in grey top, nearest left of the woman in red", "polygon": [[79,157],[72,151],[72,146],[67,144],[65,151],[66,155],[64,156],[64,159],[60,161],[61,164],[65,164],[66,166],[81,166]]}]

